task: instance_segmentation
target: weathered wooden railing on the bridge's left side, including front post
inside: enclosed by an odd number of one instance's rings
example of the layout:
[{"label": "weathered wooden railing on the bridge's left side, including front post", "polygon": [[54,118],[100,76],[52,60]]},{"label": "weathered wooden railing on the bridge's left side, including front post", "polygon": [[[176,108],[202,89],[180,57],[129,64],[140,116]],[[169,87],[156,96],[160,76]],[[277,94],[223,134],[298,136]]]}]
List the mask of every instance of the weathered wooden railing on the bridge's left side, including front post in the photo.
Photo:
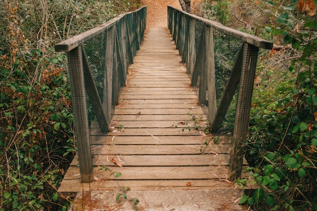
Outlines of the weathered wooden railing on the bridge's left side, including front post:
[{"label": "weathered wooden railing on the bridge's left side, including front post", "polygon": [[139,50],[145,27],[146,7],[142,7],[55,46],[55,51],[67,52],[82,182],[93,179],[88,110],[101,132],[107,133],[111,111],[118,104],[128,65]]}]

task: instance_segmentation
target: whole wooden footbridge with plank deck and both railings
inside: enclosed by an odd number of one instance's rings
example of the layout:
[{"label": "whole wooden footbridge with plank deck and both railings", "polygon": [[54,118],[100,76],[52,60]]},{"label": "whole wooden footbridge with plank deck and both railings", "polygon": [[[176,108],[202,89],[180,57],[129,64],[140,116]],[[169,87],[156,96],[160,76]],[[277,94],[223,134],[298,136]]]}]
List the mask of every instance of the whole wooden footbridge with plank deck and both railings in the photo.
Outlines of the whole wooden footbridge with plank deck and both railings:
[{"label": "whole wooden footbridge with plank deck and both railings", "polygon": [[[143,7],[56,45],[68,52],[78,143],[63,194],[233,190],[248,176],[257,53],[272,44],[177,9],[168,14],[169,28],[145,30]],[[241,43],[220,97],[216,32]],[[233,131],[219,133],[235,93]]]}]

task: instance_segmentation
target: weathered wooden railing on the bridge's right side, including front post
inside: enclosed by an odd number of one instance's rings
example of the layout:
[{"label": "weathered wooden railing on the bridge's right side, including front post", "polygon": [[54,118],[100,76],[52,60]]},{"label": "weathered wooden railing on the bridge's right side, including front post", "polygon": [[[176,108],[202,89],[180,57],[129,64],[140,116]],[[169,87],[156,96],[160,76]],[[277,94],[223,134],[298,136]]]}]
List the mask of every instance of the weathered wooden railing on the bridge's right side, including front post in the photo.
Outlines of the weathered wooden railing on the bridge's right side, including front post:
[{"label": "weathered wooden railing on the bridge's right side, including front post", "polygon": [[[259,48],[272,49],[273,44],[172,7],[168,7],[168,27],[182,61],[187,65],[187,73],[191,75],[191,85],[195,87],[200,78],[199,102],[202,105],[208,104],[212,133],[217,133],[221,128],[231,100],[239,87],[229,164],[229,179],[233,181],[242,173],[258,51]],[[218,106],[215,33],[234,37],[241,43]]]}]

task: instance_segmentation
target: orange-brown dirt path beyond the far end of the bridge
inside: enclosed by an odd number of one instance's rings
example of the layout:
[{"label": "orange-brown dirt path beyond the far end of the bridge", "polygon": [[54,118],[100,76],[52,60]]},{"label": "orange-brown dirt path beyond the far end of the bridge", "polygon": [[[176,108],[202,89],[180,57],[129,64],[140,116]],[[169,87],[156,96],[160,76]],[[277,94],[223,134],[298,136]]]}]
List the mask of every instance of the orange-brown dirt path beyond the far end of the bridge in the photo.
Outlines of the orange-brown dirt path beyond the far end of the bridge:
[{"label": "orange-brown dirt path beyond the far end of the bridge", "polygon": [[147,6],[147,27],[167,27],[167,6],[182,9],[178,0],[142,0]]}]

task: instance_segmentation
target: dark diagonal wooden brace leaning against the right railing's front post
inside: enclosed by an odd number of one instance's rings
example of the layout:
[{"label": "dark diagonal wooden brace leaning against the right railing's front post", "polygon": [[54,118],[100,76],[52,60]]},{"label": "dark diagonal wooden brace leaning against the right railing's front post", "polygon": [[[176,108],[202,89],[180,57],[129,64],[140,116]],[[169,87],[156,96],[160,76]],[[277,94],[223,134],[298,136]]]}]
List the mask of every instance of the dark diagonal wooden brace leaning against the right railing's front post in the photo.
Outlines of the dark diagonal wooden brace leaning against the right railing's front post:
[{"label": "dark diagonal wooden brace leaning against the right railing's front post", "polygon": [[230,106],[232,97],[235,94],[237,86],[240,83],[245,45],[246,45],[246,43],[243,43],[240,47],[240,51],[236,56],[234,65],[233,65],[232,70],[231,70],[229,80],[228,80],[227,85],[226,85],[226,88],[225,88],[223,95],[221,97],[220,104],[219,104],[219,107],[217,110],[217,114],[216,114],[214,120],[211,121],[212,133],[217,133],[219,131],[219,129],[221,128],[222,121],[223,121],[223,119],[227,113],[227,110]]}]

